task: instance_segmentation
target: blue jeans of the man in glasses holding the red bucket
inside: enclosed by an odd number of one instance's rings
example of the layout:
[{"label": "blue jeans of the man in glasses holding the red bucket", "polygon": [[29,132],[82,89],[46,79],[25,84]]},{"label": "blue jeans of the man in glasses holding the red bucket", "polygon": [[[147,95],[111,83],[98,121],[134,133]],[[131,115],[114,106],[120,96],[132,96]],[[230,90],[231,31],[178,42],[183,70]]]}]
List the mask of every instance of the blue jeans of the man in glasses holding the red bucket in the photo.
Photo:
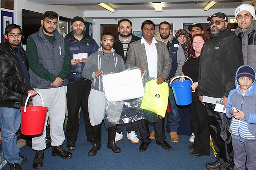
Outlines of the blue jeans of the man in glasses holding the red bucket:
[{"label": "blue jeans of the man in glasses holding the red bucket", "polygon": [[22,158],[19,156],[20,149],[18,148],[17,136],[21,123],[20,109],[9,107],[0,107],[0,125],[2,129],[2,152],[9,164],[21,164]]}]

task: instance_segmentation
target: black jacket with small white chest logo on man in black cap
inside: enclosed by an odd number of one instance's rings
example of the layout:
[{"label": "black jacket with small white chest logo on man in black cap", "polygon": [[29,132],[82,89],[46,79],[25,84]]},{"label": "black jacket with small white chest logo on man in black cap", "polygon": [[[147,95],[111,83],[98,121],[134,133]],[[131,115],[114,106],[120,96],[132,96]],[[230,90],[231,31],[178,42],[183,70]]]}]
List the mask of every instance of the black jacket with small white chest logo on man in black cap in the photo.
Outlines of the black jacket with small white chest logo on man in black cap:
[{"label": "black jacket with small white chest logo on man in black cap", "polygon": [[230,30],[210,34],[200,55],[198,96],[228,97],[235,88],[235,75],[244,64],[241,41]]}]

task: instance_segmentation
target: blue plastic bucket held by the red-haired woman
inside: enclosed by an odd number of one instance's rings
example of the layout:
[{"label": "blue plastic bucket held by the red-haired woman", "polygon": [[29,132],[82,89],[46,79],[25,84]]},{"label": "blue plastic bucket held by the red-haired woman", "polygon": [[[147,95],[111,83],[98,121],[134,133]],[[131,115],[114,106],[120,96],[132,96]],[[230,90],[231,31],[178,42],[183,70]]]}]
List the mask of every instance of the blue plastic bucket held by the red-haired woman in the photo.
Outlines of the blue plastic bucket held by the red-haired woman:
[{"label": "blue plastic bucket held by the red-haired woman", "polygon": [[[177,77],[173,78],[173,80],[176,78],[180,78],[180,77],[187,77],[187,76],[177,76]],[[172,86],[172,91],[173,91],[175,102],[177,105],[186,106],[186,105],[189,105],[192,103],[191,85],[193,84],[193,81],[190,81],[190,80],[183,80],[183,82],[182,81],[176,81],[176,82],[171,81],[170,86]]]}]

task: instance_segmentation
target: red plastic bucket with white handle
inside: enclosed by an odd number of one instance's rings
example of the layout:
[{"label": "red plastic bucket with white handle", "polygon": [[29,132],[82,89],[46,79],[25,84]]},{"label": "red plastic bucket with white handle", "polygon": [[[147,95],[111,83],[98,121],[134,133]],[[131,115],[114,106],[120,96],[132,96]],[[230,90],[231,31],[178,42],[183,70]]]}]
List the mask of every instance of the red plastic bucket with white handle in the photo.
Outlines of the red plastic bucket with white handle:
[{"label": "red plastic bucket with white handle", "polygon": [[27,106],[28,98],[25,103],[25,107],[21,109],[21,133],[23,135],[39,135],[43,133],[44,122],[48,107],[44,107],[44,101],[39,92],[37,92],[42,100],[43,106]]}]

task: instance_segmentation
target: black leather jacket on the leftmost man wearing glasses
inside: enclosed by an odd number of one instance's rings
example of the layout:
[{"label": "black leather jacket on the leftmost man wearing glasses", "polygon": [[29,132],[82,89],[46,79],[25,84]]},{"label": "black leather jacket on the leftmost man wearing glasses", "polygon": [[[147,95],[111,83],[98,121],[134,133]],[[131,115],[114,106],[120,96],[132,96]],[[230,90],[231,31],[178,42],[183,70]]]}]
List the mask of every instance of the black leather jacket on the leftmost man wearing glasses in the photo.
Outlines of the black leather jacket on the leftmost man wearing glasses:
[{"label": "black leather jacket on the leftmost man wearing glasses", "polygon": [[[28,70],[26,51],[21,47],[20,53]],[[24,106],[24,95],[34,90],[25,84],[25,78],[18,60],[18,49],[8,41],[0,43],[0,107],[20,109]]]}]

